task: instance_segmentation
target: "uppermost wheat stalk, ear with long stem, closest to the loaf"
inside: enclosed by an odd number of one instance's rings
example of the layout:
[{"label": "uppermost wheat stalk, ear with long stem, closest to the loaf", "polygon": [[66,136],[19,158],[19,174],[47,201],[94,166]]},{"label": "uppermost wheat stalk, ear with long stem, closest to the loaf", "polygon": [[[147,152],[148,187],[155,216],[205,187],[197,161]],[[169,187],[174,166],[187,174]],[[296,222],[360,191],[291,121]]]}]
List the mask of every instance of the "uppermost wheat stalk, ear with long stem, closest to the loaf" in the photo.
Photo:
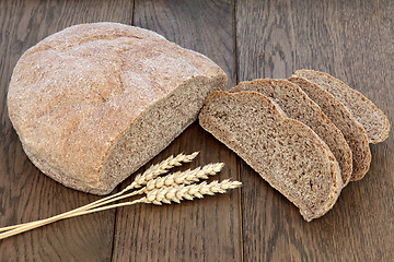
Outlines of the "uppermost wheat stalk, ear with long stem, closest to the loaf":
[{"label": "uppermost wheat stalk, ear with long stem, closest to the loaf", "polygon": [[[120,192],[108,195],[108,196],[103,198],[103,199],[100,199],[97,201],[94,201],[94,202],[92,202],[90,204],[86,204],[86,205],[80,206],[78,209],[71,210],[69,212],[59,214],[57,216],[53,216],[50,218],[55,218],[55,217],[56,218],[61,218],[61,217],[67,218],[68,215],[71,215],[71,214],[74,214],[74,213],[78,213],[78,212],[82,212],[82,211],[86,211],[86,210],[90,210],[90,209],[94,209],[96,206],[101,206],[101,205],[104,205],[106,203],[113,202],[113,201],[115,201],[113,199],[124,194],[126,191],[129,191],[129,190],[135,189],[135,188],[142,187],[143,184],[146,184],[151,179],[157,178],[158,176],[160,176],[162,174],[165,174],[169,169],[171,169],[171,168],[173,168],[175,166],[182,166],[182,163],[192,162],[198,155],[198,153],[199,152],[194,152],[190,155],[185,155],[185,154],[181,153],[175,157],[170,156],[169,158],[162,160],[161,163],[150,166],[143,174],[137,175],[135,181],[131,182],[128,187],[126,187]],[[136,194],[140,194],[140,193],[142,193],[142,192],[134,193],[131,195],[136,195]],[[128,196],[131,196],[131,195],[128,194]],[[111,201],[111,200],[113,200],[113,201]],[[49,218],[46,218],[46,219],[49,219]],[[37,221],[37,222],[44,222],[46,219],[42,219],[42,221]],[[11,229],[15,229],[15,228],[19,228],[21,226],[27,226],[30,224],[35,224],[37,222],[28,222],[28,223],[24,223],[24,224],[2,227],[2,228],[0,228],[0,233],[11,230]]]}]

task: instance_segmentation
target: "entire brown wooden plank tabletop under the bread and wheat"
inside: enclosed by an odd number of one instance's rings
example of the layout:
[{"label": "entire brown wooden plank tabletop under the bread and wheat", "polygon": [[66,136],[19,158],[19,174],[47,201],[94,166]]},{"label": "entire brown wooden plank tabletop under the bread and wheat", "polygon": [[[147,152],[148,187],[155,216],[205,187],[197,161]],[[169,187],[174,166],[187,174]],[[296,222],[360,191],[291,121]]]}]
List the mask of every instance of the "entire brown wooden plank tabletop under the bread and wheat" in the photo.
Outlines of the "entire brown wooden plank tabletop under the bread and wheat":
[{"label": "entire brown wooden plank tabletop under the bread and wheat", "polygon": [[[27,159],[8,118],[12,69],[46,36],[99,21],[153,29],[219,63],[229,74],[228,87],[256,78],[288,78],[297,69],[321,70],[362,92],[393,122],[393,11],[390,0],[0,0],[0,226],[99,199],[44,176]],[[393,135],[371,145],[366,178],[345,188],[334,209],[312,223],[197,122],[140,171],[171,154],[194,151],[200,155],[185,167],[223,162],[219,178],[239,179],[243,188],[58,222],[0,240],[0,260],[394,261]]]}]

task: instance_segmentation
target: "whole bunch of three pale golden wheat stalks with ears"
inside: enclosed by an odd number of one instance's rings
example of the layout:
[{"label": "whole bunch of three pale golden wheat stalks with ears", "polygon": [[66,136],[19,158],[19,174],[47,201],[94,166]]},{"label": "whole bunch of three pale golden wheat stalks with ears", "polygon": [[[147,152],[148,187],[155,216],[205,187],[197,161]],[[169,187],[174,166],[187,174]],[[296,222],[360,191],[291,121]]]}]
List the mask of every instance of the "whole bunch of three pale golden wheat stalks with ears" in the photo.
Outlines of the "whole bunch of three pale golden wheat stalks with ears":
[{"label": "whole bunch of three pale golden wheat stalks with ears", "polygon": [[[57,221],[74,216],[80,216],[119,206],[134,205],[137,203],[152,203],[157,205],[161,205],[162,203],[170,204],[171,202],[179,203],[181,200],[184,199],[193,200],[194,198],[202,198],[204,194],[211,195],[215,193],[224,193],[229,189],[237,188],[241,186],[241,182],[230,180],[224,180],[222,182],[213,181],[209,184],[207,182],[201,182],[199,184],[186,186],[197,182],[200,179],[207,179],[208,176],[216,175],[217,172],[221,171],[224,165],[222,163],[209,164],[204,166],[202,168],[198,167],[193,170],[188,169],[186,171],[174,172],[165,177],[159,177],[160,175],[167,172],[169,169],[173,168],[174,166],[181,166],[182,163],[192,162],[197,156],[197,154],[198,152],[195,152],[190,155],[179,154],[175,157],[170,156],[165,160],[148,168],[142,175],[138,175],[135,181],[120,192],[103,198],[93,203],[46,219],[0,228],[0,231],[4,231],[0,234],[0,239],[4,239],[16,234],[21,234]],[[127,191],[138,188],[141,189],[125,194]],[[142,193],[146,193],[147,196],[130,202],[107,205],[112,202]]]}]

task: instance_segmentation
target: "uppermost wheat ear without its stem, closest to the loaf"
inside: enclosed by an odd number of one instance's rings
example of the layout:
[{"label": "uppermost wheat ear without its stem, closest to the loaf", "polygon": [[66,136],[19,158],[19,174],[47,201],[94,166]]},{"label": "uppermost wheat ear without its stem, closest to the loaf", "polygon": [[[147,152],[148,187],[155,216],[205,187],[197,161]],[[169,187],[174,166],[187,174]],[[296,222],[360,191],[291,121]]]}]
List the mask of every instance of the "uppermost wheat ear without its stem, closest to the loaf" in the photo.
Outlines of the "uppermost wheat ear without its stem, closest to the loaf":
[{"label": "uppermost wheat ear without its stem, closest to the loaf", "polygon": [[151,166],[148,168],[142,175],[137,175],[136,179],[132,183],[130,183],[127,188],[123,190],[123,192],[126,192],[128,190],[135,189],[135,188],[141,188],[142,186],[147,184],[150,180],[157,178],[158,176],[165,174],[169,171],[169,169],[181,166],[182,163],[189,163],[192,162],[199,152],[195,152],[190,155],[184,155],[179,154],[175,157],[170,156],[165,160]]}]

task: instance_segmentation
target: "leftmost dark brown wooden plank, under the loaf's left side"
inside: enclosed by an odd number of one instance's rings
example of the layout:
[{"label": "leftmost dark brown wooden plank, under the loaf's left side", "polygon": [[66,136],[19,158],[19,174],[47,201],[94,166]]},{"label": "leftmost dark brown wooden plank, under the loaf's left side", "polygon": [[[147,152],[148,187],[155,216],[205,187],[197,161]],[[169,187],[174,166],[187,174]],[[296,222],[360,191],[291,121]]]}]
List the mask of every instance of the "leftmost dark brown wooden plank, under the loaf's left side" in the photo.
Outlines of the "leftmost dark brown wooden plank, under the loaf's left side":
[{"label": "leftmost dark brown wooden plank, under the loaf's left side", "polygon": [[[20,56],[67,26],[99,21],[130,23],[132,2],[0,2],[0,225],[49,217],[99,196],[67,189],[27,159],[8,118],[5,96]],[[59,222],[0,243],[1,261],[108,261],[115,211]]]}]

